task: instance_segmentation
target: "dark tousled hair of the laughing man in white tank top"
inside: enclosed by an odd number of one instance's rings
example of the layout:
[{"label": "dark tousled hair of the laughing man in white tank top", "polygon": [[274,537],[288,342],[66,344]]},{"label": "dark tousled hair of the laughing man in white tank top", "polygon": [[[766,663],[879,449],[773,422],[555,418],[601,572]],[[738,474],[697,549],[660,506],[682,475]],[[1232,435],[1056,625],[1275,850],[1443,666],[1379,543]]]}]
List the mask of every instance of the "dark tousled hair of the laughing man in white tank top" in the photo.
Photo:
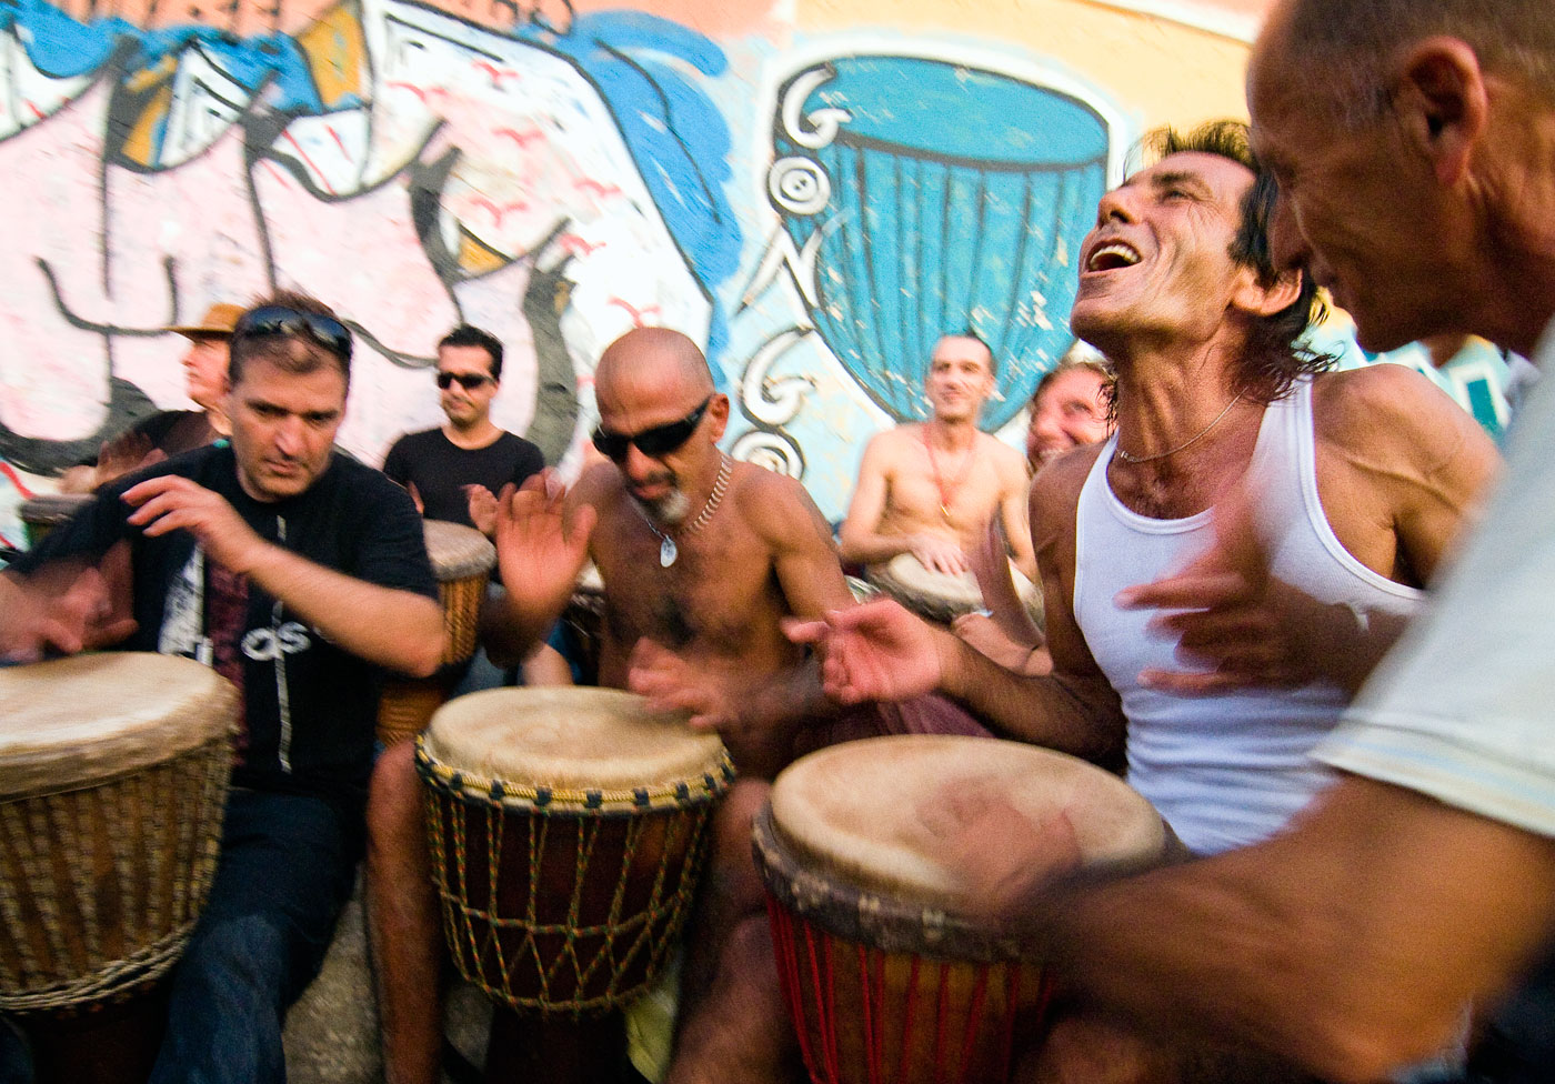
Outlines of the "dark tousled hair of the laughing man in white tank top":
[{"label": "dark tousled hair of the laughing man in white tank top", "polygon": [[[1280,190],[1274,174],[1253,154],[1247,140],[1247,124],[1216,120],[1188,132],[1158,128],[1146,134],[1141,145],[1155,160],[1171,154],[1214,154],[1252,171],[1253,184],[1242,196],[1241,222],[1236,236],[1232,238],[1230,255],[1253,271],[1260,286],[1264,289],[1275,286],[1281,272],[1275,268],[1269,249],[1269,224],[1274,221]],[[1316,353],[1302,341],[1308,325],[1320,322],[1325,314],[1317,283],[1303,269],[1302,288],[1294,302],[1278,313],[1249,322],[1232,390],[1253,403],[1269,404],[1284,397],[1297,376],[1333,369],[1337,361],[1334,356]]]}]

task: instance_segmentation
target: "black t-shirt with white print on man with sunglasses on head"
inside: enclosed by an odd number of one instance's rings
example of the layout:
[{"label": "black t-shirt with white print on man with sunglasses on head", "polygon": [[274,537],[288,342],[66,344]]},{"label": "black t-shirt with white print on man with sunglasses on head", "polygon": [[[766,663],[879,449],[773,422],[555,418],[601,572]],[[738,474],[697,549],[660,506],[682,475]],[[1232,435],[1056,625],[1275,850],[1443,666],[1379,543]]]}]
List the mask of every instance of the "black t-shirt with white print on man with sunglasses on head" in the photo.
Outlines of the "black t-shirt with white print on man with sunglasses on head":
[{"label": "black t-shirt with white print on man with sunglasses on head", "polygon": [[233,784],[359,806],[372,770],[379,667],[331,644],[247,577],[211,568],[187,530],[148,538],[128,524],[131,509],[120,495],[162,474],[219,493],[261,538],[317,565],[435,599],[409,496],[379,471],[334,456],[305,493],[261,502],[238,482],[230,446],[199,448],[115,481],[12,565],[25,574],[59,557],[96,558],[128,538],[140,627],[123,647],[187,655],[238,678],[244,725]]}]

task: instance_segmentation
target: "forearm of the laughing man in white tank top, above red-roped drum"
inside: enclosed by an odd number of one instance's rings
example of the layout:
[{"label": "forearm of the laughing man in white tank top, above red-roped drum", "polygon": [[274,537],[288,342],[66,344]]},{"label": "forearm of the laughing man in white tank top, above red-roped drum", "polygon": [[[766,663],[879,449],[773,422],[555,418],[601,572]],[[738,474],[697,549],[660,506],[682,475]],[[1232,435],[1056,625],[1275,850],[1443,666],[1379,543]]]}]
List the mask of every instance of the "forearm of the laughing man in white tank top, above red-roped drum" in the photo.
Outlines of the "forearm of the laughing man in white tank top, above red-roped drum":
[{"label": "forearm of the laughing man in white tank top, above red-roped drum", "polygon": [[941,692],[1005,737],[1088,761],[1115,756],[1126,723],[1106,678],[1014,673],[958,636],[936,630]]}]

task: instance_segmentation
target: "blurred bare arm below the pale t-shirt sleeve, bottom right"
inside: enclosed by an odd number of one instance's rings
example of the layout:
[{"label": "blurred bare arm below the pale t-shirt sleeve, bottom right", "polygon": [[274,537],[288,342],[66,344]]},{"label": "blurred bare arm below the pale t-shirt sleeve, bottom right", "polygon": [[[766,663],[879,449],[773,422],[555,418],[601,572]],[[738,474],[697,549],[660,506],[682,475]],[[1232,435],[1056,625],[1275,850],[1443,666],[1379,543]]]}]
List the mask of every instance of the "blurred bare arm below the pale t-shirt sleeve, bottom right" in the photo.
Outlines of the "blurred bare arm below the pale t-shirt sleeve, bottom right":
[{"label": "blurred bare arm below the pale t-shirt sleeve, bottom right", "polygon": [[1449,1042],[1550,932],[1555,846],[1345,779],[1244,851],[1047,894],[1017,935],[1082,1000],[1372,1081]]}]

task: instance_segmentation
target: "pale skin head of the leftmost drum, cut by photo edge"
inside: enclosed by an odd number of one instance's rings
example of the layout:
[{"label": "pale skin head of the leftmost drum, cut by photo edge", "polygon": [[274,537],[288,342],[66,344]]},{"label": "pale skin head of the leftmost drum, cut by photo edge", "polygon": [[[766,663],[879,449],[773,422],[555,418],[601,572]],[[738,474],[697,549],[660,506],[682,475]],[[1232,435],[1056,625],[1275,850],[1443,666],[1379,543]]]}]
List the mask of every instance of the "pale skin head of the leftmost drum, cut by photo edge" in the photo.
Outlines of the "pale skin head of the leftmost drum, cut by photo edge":
[{"label": "pale skin head of the leftmost drum, cut by photo edge", "polygon": [[229,733],[230,681],[193,659],[103,652],[0,669],[0,799],[90,785]]}]

